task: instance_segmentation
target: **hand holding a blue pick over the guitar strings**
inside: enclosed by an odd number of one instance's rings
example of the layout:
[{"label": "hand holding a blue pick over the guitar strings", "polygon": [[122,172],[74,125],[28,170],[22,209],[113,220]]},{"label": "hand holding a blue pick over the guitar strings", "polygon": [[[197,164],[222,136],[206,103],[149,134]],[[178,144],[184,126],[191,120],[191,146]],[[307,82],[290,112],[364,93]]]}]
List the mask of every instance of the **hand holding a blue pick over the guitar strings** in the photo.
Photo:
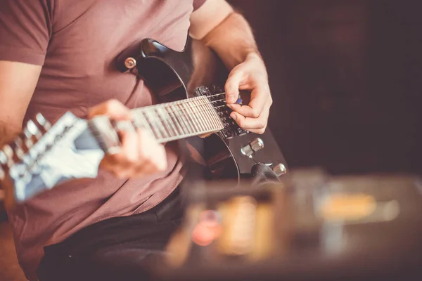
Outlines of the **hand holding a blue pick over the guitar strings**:
[{"label": "hand holding a blue pick over the guitar strings", "polygon": [[[269,107],[272,104],[268,75],[262,58],[250,53],[245,61],[231,70],[226,81],[226,103],[233,110],[230,117],[241,128],[253,133],[264,133],[267,128]],[[239,105],[239,90],[249,90],[250,103]]]}]

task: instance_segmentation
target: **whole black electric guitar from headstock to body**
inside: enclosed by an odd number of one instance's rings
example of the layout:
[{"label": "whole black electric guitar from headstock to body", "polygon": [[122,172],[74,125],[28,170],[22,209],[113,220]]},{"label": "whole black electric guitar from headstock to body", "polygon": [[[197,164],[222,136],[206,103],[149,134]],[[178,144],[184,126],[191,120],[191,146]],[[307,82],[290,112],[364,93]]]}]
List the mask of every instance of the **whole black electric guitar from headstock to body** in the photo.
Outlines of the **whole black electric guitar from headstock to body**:
[{"label": "whole black electric guitar from headstock to body", "polygon": [[227,72],[216,58],[190,39],[183,52],[152,39],[128,48],[117,58],[117,68],[143,77],[160,103],[134,109],[132,122],[79,119],[67,112],[51,125],[37,115],[0,150],[6,204],[24,202],[64,181],[95,178],[104,154],[120,148],[117,131],[136,127],[150,131],[160,143],[210,134],[202,156],[212,178],[239,179],[258,163],[276,176],[285,174],[286,163],[271,132],[249,133],[229,117],[222,91]]}]

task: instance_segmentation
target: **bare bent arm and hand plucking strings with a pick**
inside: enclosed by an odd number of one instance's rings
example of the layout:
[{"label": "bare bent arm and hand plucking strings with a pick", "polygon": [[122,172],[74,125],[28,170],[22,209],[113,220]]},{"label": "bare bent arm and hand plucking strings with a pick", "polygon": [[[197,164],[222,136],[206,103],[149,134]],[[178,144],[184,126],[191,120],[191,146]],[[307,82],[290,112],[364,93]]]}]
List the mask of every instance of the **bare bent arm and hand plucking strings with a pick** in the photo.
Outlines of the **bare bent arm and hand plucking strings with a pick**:
[{"label": "bare bent arm and hand plucking strings with a pick", "polygon": [[[191,15],[191,37],[210,46],[226,67],[226,102],[243,129],[264,133],[272,98],[264,61],[248,22],[225,0],[208,0]],[[239,90],[250,90],[248,105],[235,104]]]}]

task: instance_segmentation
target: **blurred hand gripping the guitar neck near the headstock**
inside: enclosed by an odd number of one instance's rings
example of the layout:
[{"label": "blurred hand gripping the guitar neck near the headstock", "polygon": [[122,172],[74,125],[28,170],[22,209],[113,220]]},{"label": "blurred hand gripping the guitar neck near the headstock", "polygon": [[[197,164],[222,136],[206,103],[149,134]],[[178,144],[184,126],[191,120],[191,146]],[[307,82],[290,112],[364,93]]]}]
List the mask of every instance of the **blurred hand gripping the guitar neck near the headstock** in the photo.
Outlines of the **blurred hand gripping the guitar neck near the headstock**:
[{"label": "blurred hand gripping the guitar neck near the headstock", "polygon": [[[115,121],[132,119],[132,112],[117,100],[108,100],[89,110],[89,118],[106,115]],[[148,131],[120,131],[122,149],[106,155],[101,169],[112,172],[118,178],[132,178],[155,174],[167,167],[165,148]]]}]

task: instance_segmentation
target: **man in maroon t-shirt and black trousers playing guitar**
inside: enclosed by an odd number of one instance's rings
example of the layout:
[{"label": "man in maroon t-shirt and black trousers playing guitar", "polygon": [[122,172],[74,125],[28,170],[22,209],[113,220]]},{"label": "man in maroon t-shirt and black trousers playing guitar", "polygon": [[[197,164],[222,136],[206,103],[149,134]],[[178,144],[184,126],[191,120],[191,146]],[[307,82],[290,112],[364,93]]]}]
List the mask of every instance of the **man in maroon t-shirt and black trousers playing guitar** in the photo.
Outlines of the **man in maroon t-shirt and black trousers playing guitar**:
[{"label": "man in maroon t-shirt and black trousers playing guitar", "polygon": [[[242,15],[224,0],[0,0],[0,145],[41,112],[130,119],[153,93],[113,67],[144,38],[174,50],[203,41],[231,72],[226,103],[243,129],[263,133],[271,94],[264,62]],[[239,89],[250,90],[238,105]],[[29,280],[141,279],[180,221],[183,176],[177,145],[123,131],[93,180],[67,183],[9,210]],[[63,159],[65,161],[65,159]],[[145,273],[146,274],[146,273]]]}]

